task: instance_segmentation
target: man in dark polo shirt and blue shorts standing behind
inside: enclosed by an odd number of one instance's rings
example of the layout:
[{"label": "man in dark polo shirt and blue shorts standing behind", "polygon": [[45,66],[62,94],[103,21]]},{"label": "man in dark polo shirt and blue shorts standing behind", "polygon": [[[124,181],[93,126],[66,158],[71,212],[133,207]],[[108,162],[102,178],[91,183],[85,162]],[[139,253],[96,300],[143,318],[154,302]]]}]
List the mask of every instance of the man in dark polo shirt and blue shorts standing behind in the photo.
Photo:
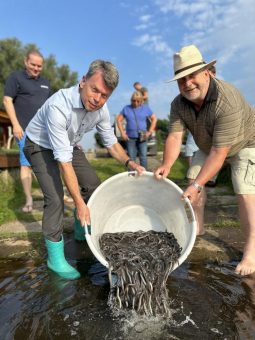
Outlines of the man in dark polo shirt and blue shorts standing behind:
[{"label": "man in dark polo shirt and blue shorts standing behind", "polygon": [[31,194],[32,171],[23,153],[25,129],[36,111],[50,96],[49,81],[41,76],[43,56],[37,50],[31,50],[24,59],[25,69],[12,72],[6,80],[3,104],[11,120],[13,135],[20,148],[20,178],[26,196],[23,212],[31,212],[33,198]]}]

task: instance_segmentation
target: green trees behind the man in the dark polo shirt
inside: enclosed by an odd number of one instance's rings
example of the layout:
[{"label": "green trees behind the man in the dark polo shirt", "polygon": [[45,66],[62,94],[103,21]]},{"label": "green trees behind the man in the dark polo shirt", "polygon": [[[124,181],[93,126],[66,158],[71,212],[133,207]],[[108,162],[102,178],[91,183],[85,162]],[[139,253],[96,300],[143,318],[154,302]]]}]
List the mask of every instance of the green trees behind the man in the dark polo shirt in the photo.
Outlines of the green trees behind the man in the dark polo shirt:
[{"label": "green trees behind the man in the dark polo shirt", "polygon": [[[0,40],[0,109],[2,110],[5,80],[11,72],[24,68],[24,57],[31,49],[40,50],[35,44],[23,45],[16,38]],[[72,72],[66,64],[59,66],[54,55],[44,56],[42,74],[48,78],[53,93],[60,88],[72,86],[78,81],[77,72]]]}]

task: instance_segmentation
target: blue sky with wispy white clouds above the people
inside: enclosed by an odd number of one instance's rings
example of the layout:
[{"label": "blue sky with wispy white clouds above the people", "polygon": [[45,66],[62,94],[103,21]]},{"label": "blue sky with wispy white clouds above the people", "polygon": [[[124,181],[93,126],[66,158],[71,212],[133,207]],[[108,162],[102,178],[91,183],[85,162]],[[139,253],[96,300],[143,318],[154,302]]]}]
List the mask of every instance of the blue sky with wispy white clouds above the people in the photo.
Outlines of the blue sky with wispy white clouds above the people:
[{"label": "blue sky with wispy white clouds above the people", "polygon": [[[217,75],[255,104],[254,0],[8,0],[0,2],[0,39],[35,43],[79,78],[94,59],[112,61],[120,83],[108,102],[113,117],[129,103],[134,81],[149,89],[161,119],[178,93],[172,55],[195,44]],[[94,143],[90,134],[85,149]]]}]

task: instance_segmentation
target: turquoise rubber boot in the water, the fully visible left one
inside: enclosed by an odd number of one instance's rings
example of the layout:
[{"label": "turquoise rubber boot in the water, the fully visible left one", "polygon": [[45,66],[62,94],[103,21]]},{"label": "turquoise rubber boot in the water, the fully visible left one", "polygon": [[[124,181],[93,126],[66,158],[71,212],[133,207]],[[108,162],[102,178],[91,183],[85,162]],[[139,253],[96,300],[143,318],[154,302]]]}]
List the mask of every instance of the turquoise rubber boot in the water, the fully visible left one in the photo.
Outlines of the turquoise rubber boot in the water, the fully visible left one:
[{"label": "turquoise rubber boot in the water, the fully visible left one", "polygon": [[80,273],[74,267],[70,266],[65,259],[63,236],[59,242],[52,242],[45,239],[45,243],[48,251],[48,268],[65,279],[78,279],[81,276]]}]

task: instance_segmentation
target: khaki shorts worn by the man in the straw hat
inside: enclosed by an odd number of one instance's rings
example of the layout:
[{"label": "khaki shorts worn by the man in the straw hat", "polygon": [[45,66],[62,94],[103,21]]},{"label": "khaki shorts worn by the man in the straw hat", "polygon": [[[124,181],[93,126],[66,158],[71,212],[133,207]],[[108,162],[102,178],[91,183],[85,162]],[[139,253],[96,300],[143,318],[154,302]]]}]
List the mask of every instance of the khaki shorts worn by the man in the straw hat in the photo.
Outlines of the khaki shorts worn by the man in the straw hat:
[{"label": "khaki shorts worn by the man in the straw hat", "polygon": [[[195,179],[207,155],[198,150],[187,172],[187,178]],[[245,148],[227,160],[231,166],[231,179],[236,194],[255,194],[255,148]]]}]

